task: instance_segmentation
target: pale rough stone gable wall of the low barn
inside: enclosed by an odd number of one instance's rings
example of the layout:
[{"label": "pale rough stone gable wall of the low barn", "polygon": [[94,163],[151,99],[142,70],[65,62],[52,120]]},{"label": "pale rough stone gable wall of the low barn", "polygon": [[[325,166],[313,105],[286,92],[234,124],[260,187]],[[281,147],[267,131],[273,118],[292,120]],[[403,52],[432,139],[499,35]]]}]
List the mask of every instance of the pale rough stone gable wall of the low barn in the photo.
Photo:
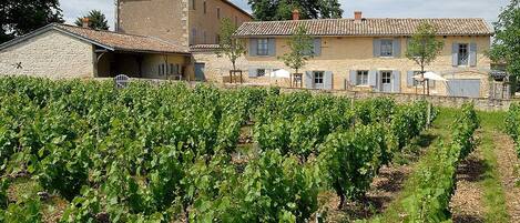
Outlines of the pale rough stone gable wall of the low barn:
[{"label": "pale rough stone gable wall of the low barn", "polygon": [[93,61],[92,44],[50,30],[0,51],[0,75],[92,78]]}]

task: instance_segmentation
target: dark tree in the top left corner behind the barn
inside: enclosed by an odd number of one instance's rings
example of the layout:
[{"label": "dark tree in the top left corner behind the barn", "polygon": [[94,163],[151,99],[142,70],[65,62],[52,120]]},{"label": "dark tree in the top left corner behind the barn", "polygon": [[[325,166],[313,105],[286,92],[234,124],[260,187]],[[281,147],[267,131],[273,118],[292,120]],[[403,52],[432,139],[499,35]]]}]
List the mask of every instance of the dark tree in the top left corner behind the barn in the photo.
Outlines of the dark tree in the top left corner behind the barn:
[{"label": "dark tree in the top left corner behind the barn", "polygon": [[2,0],[0,43],[52,22],[62,23],[59,0]]}]

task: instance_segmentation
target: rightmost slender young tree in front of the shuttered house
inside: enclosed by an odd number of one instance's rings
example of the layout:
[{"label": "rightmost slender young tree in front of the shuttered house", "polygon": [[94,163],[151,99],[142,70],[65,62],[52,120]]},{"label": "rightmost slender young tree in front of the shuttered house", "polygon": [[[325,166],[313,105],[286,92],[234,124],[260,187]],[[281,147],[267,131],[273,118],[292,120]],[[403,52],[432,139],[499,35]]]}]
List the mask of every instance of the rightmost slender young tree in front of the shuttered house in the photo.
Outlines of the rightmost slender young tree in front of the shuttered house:
[{"label": "rightmost slender young tree in front of the shuttered house", "polygon": [[[437,29],[428,22],[420,23],[408,42],[406,57],[420,67],[421,78],[425,78],[425,67],[429,65],[439,55],[445,43],[436,39]],[[426,93],[426,84],[422,84]]]}]

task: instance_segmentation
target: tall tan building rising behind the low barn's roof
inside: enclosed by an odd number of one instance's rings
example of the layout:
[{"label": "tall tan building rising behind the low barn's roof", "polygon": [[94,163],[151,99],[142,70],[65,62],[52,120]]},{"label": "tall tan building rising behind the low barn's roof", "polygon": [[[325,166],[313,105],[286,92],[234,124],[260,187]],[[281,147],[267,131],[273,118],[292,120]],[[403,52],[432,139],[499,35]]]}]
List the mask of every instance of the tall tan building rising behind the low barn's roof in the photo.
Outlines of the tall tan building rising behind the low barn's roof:
[{"label": "tall tan building rising behind the low barn's roof", "polygon": [[184,47],[218,43],[220,22],[239,27],[252,16],[227,0],[116,0],[116,31]]}]

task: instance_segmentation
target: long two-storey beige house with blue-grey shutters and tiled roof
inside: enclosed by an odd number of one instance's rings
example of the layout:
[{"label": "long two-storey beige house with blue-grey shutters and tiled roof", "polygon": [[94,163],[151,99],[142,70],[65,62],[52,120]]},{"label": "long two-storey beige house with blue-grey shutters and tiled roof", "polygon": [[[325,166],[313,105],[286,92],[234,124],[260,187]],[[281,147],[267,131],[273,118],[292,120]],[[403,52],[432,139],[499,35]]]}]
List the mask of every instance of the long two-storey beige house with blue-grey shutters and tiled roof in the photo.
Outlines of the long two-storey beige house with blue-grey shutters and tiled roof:
[{"label": "long two-storey beige house with blue-grey shutters and tiled roof", "polygon": [[420,67],[405,52],[421,22],[434,24],[445,42],[427,70],[448,81],[431,81],[430,93],[487,97],[490,60],[486,51],[493,31],[483,19],[365,19],[357,12],[354,19],[246,22],[236,37],[248,45],[247,62],[242,63],[248,71],[247,82],[273,83],[268,73],[290,71],[278,57],[288,51],[287,40],[295,29],[304,26],[314,37],[314,58],[302,69],[304,88],[415,93],[422,91],[412,79]]}]

